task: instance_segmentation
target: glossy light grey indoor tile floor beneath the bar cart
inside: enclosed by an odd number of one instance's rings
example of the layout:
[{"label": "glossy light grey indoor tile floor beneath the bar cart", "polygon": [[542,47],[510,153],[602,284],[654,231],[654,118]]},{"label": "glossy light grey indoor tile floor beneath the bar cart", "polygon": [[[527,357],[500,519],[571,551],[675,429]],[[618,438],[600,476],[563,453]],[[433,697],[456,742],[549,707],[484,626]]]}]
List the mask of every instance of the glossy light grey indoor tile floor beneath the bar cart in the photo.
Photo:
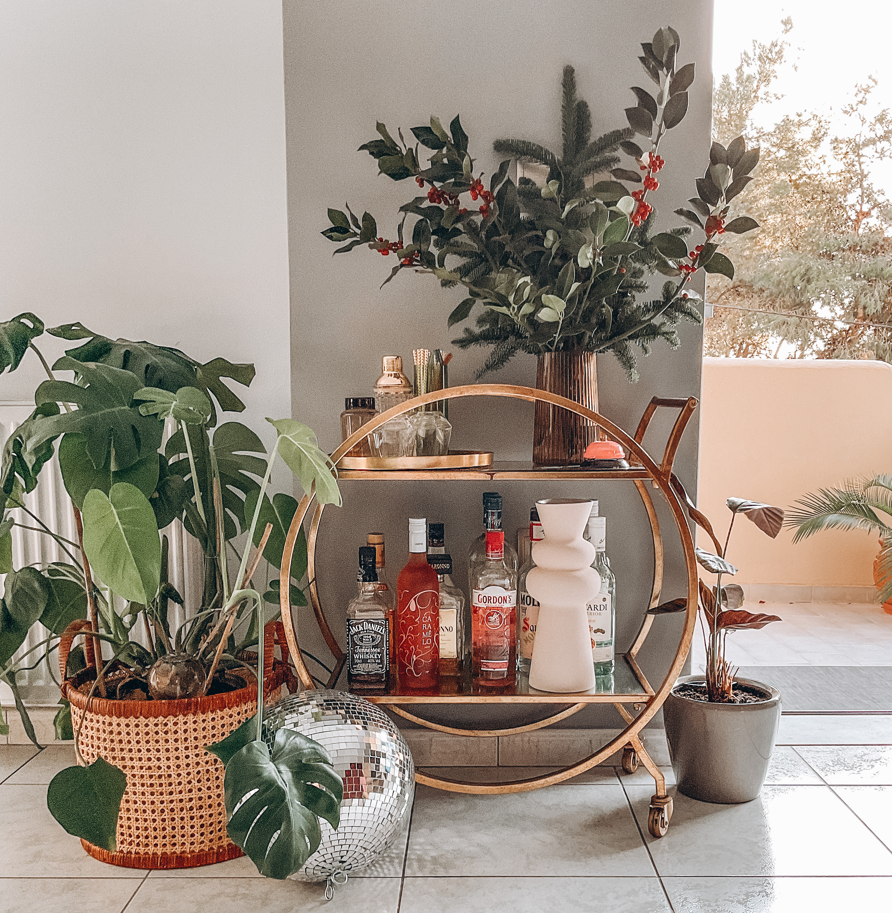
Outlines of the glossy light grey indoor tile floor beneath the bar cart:
[{"label": "glossy light grey indoor tile floor beneath the bar cart", "polygon": [[[71,763],[72,750],[0,746],[0,909],[885,910],[892,908],[889,719],[813,717],[807,729],[782,727],[785,744],[775,750],[768,782],[751,803],[699,803],[670,785],[675,814],[662,840],[647,834],[653,782],[641,770],[626,776],[599,768],[573,782],[514,796],[419,787],[410,826],[392,851],[338,888],[331,903],[322,887],[261,878],[244,858],[178,872],[105,866],[84,854],[47,812],[46,784]],[[853,744],[836,744],[841,733]],[[876,744],[881,740],[887,744]],[[530,775],[530,769],[473,772]],[[671,784],[671,769],[664,772]]]}]

